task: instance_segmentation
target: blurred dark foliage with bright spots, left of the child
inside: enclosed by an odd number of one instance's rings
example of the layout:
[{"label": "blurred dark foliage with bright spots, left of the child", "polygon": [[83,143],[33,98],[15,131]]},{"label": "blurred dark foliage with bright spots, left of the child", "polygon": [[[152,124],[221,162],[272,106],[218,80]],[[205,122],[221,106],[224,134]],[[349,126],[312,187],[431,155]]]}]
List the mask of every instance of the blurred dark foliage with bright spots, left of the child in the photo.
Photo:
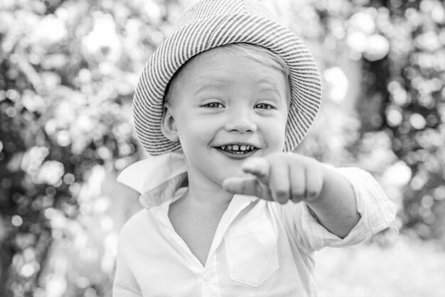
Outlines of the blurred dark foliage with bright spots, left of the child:
[{"label": "blurred dark foliage with bright spots, left of the child", "polygon": [[[50,296],[39,278],[51,243],[75,242],[90,223],[83,184],[95,166],[121,171],[140,158],[131,101],[180,9],[164,4],[1,1],[1,296]],[[63,296],[107,295],[97,279]]]}]

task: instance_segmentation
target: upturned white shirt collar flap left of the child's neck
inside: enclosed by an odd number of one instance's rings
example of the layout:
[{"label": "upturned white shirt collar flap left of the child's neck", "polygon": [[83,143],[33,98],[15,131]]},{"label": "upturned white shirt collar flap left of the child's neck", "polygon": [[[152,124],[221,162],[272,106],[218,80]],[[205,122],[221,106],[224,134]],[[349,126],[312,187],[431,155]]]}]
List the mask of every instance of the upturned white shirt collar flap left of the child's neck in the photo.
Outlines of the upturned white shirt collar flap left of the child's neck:
[{"label": "upturned white shirt collar flap left of the child's neck", "polygon": [[[117,181],[141,193],[141,205],[147,209],[171,200],[187,181],[186,159],[182,152],[163,153],[133,163]],[[254,196],[245,196],[251,201]]]}]

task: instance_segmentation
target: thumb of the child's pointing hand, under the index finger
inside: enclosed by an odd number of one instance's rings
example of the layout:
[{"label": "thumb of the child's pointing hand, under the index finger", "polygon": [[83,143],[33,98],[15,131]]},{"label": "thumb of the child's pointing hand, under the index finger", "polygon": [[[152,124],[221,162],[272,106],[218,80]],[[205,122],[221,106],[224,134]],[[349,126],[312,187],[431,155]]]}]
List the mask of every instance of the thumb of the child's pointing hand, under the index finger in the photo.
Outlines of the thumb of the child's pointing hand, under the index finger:
[{"label": "thumb of the child's pointing hand, under the index finger", "polygon": [[269,188],[252,174],[226,178],[223,181],[223,189],[233,194],[252,195],[273,201]]}]

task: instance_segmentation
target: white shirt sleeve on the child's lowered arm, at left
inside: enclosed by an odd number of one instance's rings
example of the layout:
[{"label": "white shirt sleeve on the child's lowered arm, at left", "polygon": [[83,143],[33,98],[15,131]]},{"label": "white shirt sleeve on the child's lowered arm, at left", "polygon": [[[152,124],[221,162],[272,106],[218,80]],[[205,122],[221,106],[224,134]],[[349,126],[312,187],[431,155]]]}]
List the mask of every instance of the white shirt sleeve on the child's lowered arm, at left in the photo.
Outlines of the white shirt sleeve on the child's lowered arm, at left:
[{"label": "white shirt sleeve on the child's lowered arm, at left", "polygon": [[113,297],[142,297],[139,284],[125,259],[122,237],[119,238],[116,256],[116,272],[113,281]]}]

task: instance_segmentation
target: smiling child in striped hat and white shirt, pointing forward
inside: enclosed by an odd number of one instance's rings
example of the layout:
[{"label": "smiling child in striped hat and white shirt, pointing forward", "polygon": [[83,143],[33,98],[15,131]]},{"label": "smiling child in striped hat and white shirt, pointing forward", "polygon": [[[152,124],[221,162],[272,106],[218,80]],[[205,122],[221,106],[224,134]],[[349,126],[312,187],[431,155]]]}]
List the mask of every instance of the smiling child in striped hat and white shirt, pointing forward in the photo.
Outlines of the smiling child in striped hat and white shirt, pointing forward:
[{"label": "smiling child in striped hat and white shirt, pointing forward", "polygon": [[368,173],[291,153],[320,100],[309,51],[258,1],[186,10],[134,96],[153,157],[119,176],[145,209],[122,228],[114,296],[316,296],[313,252],[395,216]]}]

